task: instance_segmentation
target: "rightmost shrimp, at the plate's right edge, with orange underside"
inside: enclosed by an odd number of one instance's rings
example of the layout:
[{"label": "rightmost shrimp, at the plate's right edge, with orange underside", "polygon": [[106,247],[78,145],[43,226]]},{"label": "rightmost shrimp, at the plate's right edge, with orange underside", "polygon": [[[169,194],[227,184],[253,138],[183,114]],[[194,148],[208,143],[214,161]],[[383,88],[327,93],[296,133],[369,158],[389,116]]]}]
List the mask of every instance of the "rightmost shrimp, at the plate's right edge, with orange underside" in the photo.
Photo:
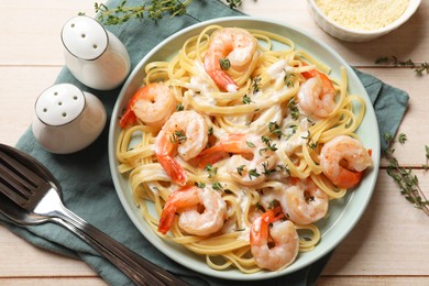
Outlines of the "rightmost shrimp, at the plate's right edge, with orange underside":
[{"label": "rightmost shrimp, at the plate's right edge, with orange underside", "polygon": [[356,186],[363,170],[372,166],[371,151],[359,140],[339,135],[323,145],[320,166],[323,174],[339,188]]}]

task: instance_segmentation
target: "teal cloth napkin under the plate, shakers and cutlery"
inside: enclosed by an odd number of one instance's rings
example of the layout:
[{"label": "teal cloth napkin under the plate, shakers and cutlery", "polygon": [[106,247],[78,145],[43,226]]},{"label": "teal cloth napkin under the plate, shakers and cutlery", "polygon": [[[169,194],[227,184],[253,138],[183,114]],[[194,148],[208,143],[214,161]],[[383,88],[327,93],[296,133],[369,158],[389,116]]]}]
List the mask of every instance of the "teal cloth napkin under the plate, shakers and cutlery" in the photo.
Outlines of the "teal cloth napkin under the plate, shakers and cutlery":
[{"label": "teal cloth napkin under the plate, shakers and cutlery", "polygon": [[[121,2],[122,0],[111,0],[107,2],[107,6],[117,7]],[[140,3],[141,1],[138,0],[128,1],[130,6]],[[205,20],[238,14],[241,13],[231,10],[220,1],[197,0],[188,7],[185,15],[172,19],[166,16],[157,22],[146,19],[129,21],[123,25],[107,26],[107,29],[124,43],[131,56],[132,67],[134,67],[148,51],[173,33]],[[385,85],[371,75],[355,72],[370,94],[377,114],[381,134],[385,132],[395,134],[408,102],[407,94]],[[103,102],[108,118],[110,118],[120,88],[111,91],[91,90],[76,80],[67,68],[64,68],[58,75],[55,84],[59,82],[70,82],[96,95]],[[140,255],[177,274],[191,285],[226,285],[231,283],[196,274],[173,262],[152,246],[133,226],[117,197],[111,180],[108,162],[108,127],[109,121],[95,143],[70,155],[56,155],[44,151],[35,141],[31,129],[22,135],[16,147],[37,158],[54,174],[62,184],[65,205],[72,211]],[[384,141],[382,140],[382,142]],[[384,143],[382,150],[385,148]],[[80,239],[56,224],[45,223],[21,228],[8,222],[3,217],[0,217],[0,221],[34,245],[85,261],[110,285],[131,285],[128,277],[107,260],[100,257]],[[310,266],[278,278],[233,283],[246,286],[260,284],[314,285],[329,256],[330,254]]]}]

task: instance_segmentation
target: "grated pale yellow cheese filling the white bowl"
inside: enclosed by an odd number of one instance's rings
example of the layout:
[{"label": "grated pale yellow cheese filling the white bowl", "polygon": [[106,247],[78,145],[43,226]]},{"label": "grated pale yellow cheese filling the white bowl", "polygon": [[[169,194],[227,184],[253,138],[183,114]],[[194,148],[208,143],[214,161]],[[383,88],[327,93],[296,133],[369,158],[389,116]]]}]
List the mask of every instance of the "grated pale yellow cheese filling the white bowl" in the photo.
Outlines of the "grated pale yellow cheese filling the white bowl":
[{"label": "grated pale yellow cheese filling the white bowl", "polygon": [[371,31],[397,20],[409,0],[315,0],[319,9],[341,26]]}]

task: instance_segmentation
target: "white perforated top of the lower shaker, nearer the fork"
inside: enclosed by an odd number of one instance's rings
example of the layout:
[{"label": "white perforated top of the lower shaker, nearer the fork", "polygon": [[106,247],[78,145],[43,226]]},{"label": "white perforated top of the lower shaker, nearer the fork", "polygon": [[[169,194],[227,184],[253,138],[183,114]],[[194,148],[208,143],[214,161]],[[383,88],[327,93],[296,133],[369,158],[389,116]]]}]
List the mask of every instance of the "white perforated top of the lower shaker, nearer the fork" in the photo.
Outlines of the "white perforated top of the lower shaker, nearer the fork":
[{"label": "white perforated top of the lower shaker, nearer the fork", "polygon": [[50,87],[35,103],[37,118],[47,125],[59,127],[77,119],[85,108],[82,91],[70,84]]}]

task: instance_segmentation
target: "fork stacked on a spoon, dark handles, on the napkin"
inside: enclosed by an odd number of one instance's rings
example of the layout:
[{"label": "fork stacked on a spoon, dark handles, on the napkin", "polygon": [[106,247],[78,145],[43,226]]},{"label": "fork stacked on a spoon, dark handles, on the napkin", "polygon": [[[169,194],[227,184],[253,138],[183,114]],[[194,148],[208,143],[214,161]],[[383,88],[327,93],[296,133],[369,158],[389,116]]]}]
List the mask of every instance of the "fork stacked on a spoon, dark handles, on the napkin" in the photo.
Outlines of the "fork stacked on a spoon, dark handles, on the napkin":
[{"label": "fork stacked on a spoon, dark handles, on the napkin", "polygon": [[9,219],[19,224],[53,221],[67,228],[136,285],[187,285],[68,210],[54,176],[35,158],[3,144],[0,144],[0,193],[3,194],[0,210]]}]

